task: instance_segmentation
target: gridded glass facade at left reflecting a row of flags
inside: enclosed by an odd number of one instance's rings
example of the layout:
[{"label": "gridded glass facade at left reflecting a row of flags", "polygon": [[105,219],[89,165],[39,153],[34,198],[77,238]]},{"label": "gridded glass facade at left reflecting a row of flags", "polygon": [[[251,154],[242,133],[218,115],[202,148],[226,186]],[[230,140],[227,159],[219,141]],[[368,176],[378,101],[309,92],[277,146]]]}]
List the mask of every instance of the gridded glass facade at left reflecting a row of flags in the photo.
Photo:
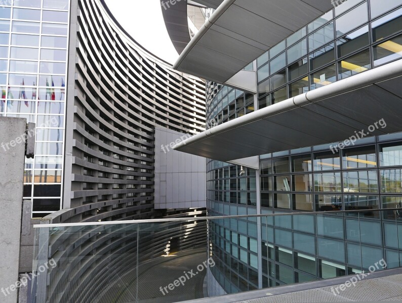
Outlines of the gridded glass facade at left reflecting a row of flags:
[{"label": "gridded glass facade at left reflecting a row of flags", "polygon": [[38,215],[61,209],[68,29],[69,0],[0,5],[0,116],[36,124],[23,195]]}]

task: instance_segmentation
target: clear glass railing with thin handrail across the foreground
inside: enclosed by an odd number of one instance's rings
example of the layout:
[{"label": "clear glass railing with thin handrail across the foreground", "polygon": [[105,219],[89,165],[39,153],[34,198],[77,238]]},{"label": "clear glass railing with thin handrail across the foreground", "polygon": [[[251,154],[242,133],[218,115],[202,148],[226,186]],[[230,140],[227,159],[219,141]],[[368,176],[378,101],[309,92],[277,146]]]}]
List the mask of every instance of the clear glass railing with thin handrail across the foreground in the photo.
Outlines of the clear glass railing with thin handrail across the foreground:
[{"label": "clear glass railing with thin handrail across the foreground", "polygon": [[402,210],[35,225],[32,302],[177,302],[402,266]]}]

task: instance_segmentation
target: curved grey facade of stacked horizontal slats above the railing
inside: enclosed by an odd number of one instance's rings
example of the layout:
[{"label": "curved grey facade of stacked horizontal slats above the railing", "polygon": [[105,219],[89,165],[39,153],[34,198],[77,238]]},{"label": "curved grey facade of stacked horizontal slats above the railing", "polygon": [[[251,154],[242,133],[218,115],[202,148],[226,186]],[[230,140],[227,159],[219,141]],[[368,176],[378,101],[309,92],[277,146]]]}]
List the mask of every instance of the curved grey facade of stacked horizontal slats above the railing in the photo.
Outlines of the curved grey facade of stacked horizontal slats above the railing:
[{"label": "curved grey facade of stacked horizontal slats above the railing", "polygon": [[63,221],[152,217],[154,126],[202,131],[204,82],[146,52],[103,3],[74,3]]}]

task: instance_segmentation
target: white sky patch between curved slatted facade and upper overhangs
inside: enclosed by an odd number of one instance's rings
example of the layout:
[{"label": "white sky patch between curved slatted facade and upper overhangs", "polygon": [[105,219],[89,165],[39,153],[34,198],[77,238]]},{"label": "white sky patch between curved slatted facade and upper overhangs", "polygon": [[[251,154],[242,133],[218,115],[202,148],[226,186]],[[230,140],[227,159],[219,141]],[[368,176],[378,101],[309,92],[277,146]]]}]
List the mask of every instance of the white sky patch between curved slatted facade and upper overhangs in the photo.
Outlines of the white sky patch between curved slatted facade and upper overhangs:
[{"label": "white sky patch between curved slatted facade and upper overhangs", "polygon": [[105,0],[124,29],[157,57],[173,64],[179,55],[166,30],[159,0]]}]

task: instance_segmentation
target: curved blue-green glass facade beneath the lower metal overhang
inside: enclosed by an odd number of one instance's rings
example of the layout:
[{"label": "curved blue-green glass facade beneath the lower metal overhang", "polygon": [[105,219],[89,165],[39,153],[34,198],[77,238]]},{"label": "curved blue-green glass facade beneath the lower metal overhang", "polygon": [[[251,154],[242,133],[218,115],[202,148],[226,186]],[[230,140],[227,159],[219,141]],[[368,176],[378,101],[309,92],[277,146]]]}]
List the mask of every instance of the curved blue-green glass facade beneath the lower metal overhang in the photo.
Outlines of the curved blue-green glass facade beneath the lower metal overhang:
[{"label": "curved blue-green glass facade beneath the lower metal overhang", "polygon": [[360,273],[382,258],[388,269],[402,264],[402,247],[389,240],[402,222],[402,133],[330,146],[262,155],[259,174],[241,177],[239,166],[208,163],[210,216],[323,212],[261,218],[261,231],[256,218],[212,224],[211,270],[225,291],[257,289],[259,268],[260,286],[272,287]]}]

